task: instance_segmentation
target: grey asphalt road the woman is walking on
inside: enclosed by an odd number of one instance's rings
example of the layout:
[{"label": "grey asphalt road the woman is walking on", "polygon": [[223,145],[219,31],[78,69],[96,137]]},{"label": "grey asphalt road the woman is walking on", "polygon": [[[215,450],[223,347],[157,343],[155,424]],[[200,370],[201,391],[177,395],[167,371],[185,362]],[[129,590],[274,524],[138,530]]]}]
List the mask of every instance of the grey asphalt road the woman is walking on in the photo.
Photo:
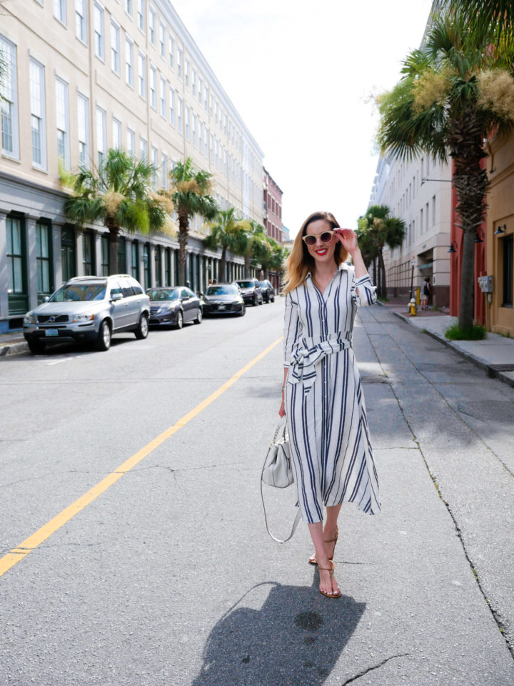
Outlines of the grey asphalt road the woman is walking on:
[{"label": "grey asphalt road the woman is walking on", "polygon": [[[344,509],[327,600],[306,527],[263,525],[281,344],[234,379],[282,318],[0,360],[1,685],[514,683],[514,389],[361,311],[383,512]],[[285,533],[292,494],[266,497]]]}]

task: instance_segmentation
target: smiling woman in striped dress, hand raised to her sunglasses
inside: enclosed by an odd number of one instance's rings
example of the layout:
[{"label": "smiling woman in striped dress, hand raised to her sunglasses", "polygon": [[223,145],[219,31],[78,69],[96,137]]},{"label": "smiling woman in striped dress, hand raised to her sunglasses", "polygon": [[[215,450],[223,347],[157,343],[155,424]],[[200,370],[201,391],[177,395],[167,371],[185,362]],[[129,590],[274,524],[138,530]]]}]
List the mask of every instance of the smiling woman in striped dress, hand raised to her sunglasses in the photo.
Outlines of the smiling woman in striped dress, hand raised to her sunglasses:
[{"label": "smiling woman in striped dress, hand raised to her sunglasses", "polygon": [[[353,267],[346,264],[348,255]],[[306,219],[288,258],[284,381],[286,414],[302,520],[308,522],[320,591],[340,597],[333,576],[343,502],[380,512],[378,479],[361,379],[351,348],[356,308],[376,302],[355,232],[330,212]],[[326,524],[323,529],[323,505]]]}]

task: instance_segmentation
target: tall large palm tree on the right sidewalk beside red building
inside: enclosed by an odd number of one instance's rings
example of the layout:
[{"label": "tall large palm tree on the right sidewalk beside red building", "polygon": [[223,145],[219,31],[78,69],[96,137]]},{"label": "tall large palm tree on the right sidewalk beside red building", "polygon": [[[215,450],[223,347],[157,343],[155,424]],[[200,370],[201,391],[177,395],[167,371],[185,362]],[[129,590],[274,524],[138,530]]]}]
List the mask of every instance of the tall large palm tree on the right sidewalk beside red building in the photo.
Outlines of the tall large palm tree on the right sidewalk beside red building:
[{"label": "tall large palm tree on the right sidewalk beside red building", "polygon": [[410,159],[426,151],[453,159],[463,230],[459,325],[473,327],[475,232],[485,217],[488,174],[483,141],[514,126],[514,79],[505,52],[489,35],[470,41],[462,14],[435,17],[423,46],[403,61],[403,77],[378,99],[383,154]]}]

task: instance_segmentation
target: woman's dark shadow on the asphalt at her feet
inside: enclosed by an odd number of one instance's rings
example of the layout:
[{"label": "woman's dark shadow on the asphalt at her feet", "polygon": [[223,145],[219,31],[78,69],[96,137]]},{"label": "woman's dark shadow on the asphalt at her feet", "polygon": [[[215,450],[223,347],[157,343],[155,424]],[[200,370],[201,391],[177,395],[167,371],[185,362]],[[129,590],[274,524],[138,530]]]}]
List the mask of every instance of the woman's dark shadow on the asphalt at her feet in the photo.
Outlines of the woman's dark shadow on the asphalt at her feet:
[{"label": "woman's dark shadow on the asphalt at her feet", "polygon": [[[333,670],[366,609],[312,587],[263,582],[251,588],[211,631],[192,686],[320,686]],[[240,607],[253,590],[271,585],[261,610]]]}]

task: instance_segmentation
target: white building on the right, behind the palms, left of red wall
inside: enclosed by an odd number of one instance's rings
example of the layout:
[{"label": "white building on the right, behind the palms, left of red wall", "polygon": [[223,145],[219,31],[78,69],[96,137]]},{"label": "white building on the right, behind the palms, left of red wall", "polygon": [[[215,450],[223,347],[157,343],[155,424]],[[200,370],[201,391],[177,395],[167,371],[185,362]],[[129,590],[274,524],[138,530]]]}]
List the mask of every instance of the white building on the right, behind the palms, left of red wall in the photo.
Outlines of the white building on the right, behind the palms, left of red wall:
[{"label": "white building on the right, behind the palms, left of red wall", "polygon": [[401,247],[384,249],[388,294],[407,296],[430,277],[433,304],[448,307],[450,299],[451,170],[428,156],[400,161],[378,160],[370,205],[383,204],[403,219]]}]

